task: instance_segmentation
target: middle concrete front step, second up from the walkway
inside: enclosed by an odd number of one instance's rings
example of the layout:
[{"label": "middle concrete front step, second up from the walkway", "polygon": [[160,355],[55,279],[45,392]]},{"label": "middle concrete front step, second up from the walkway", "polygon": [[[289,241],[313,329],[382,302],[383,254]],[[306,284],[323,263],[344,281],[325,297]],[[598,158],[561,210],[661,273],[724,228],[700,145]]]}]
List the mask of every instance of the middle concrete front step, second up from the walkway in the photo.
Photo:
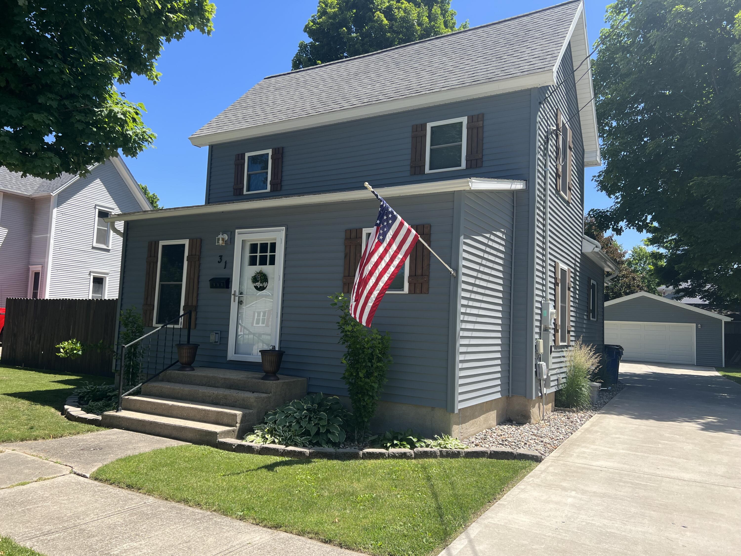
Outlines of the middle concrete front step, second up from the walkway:
[{"label": "middle concrete front step, second up from the walkway", "polygon": [[216,406],[211,403],[184,402],[154,396],[124,397],[122,407],[129,411],[200,421],[227,427],[236,427],[237,434],[247,434],[249,428],[259,423],[253,409]]}]

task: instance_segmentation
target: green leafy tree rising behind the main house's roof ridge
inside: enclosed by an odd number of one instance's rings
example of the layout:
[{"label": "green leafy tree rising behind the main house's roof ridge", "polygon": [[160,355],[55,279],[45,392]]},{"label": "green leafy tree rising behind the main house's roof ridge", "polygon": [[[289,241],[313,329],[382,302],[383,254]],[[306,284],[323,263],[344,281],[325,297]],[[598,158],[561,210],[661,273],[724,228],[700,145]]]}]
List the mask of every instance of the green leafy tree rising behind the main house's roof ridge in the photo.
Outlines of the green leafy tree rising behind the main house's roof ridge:
[{"label": "green leafy tree rising behind the main house's roof ridge", "polygon": [[467,29],[451,0],[319,0],[304,27],[294,70]]}]

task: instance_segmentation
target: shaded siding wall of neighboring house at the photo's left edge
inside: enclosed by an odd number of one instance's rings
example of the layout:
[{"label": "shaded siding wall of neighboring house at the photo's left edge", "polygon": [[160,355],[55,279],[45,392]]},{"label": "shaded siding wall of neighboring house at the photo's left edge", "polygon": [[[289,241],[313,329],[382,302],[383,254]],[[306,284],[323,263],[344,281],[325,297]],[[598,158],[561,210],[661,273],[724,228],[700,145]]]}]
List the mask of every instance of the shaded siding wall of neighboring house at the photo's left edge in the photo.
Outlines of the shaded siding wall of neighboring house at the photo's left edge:
[{"label": "shaded siding wall of neighboring house at the photo's left edge", "polygon": [[8,297],[28,295],[28,244],[33,200],[0,193],[0,307]]}]

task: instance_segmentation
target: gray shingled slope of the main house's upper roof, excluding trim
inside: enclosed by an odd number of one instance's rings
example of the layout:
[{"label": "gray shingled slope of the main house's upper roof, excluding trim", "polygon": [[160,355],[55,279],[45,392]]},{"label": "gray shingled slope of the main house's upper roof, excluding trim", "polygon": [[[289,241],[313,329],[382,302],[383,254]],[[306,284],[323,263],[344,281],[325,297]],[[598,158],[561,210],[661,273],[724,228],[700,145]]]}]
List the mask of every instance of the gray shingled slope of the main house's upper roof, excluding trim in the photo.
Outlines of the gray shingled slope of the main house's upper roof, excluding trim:
[{"label": "gray shingled slope of the main house's upper roof, excluding trim", "polygon": [[552,70],[579,3],[266,77],[192,137]]}]

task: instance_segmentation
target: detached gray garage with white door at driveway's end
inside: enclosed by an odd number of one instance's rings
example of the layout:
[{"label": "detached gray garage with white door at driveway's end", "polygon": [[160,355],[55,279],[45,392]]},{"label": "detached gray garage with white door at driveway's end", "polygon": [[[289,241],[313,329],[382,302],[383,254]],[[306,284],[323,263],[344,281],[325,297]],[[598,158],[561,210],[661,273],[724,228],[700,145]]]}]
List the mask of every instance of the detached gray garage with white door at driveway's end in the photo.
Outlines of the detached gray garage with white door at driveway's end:
[{"label": "detached gray garage with white door at driveway's end", "polygon": [[622,345],[622,359],[725,366],[723,315],[653,294],[605,301],[605,343]]}]

